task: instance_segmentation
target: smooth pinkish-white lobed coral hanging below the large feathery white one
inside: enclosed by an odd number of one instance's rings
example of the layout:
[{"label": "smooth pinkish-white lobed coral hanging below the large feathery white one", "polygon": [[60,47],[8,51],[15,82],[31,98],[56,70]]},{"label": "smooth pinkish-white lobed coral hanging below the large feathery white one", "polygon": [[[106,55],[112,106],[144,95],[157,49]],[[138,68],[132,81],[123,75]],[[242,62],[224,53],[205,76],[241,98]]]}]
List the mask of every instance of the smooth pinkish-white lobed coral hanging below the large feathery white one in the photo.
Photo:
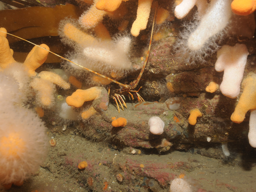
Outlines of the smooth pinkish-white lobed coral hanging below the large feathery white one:
[{"label": "smooth pinkish-white lobed coral hanging below the large feathery white one", "polygon": [[224,71],[220,91],[229,98],[236,98],[240,93],[240,84],[244,76],[244,68],[249,54],[246,45],[224,45],[217,52],[215,69]]}]

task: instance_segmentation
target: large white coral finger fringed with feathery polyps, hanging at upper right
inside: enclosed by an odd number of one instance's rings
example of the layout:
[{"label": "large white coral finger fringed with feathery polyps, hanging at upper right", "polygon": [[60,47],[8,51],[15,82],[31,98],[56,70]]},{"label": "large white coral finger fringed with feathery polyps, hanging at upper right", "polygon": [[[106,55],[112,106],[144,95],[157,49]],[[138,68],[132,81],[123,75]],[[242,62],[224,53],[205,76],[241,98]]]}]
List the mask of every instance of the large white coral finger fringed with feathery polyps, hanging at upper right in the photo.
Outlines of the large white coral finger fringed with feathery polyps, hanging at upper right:
[{"label": "large white coral finger fringed with feathery polyps, hanging at upper right", "polygon": [[227,26],[232,14],[231,1],[212,0],[206,13],[184,24],[184,30],[173,48],[189,64],[203,63],[219,48],[219,43],[227,34]]}]

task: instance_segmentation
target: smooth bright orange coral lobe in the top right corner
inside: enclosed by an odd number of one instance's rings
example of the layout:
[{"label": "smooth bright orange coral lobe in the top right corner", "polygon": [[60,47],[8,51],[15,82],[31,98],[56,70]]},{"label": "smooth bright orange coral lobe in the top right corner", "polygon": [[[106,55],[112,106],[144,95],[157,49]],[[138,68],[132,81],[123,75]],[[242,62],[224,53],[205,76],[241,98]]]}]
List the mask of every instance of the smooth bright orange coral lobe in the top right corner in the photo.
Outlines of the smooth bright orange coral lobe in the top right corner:
[{"label": "smooth bright orange coral lobe in the top right corner", "polygon": [[249,15],[256,9],[256,0],[234,0],[231,9],[237,15]]}]

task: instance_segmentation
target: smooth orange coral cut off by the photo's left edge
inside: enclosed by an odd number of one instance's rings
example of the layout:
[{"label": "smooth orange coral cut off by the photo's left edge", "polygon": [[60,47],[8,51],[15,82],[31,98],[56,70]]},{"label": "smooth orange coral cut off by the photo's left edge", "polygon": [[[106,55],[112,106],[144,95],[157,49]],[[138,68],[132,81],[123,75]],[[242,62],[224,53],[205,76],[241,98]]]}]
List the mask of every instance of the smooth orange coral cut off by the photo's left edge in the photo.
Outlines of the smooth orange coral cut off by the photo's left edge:
[{"label": "smooth orange coral cut off by the photo's left edge", "polygon": [[[0,28],[0,31],[7,32],[5,28]],[[12,57],[13,51],[10,49],[9,42],[6,39],[6,33],[0,32],[0,70],[8,67],[13,62],[16,62]]]}]

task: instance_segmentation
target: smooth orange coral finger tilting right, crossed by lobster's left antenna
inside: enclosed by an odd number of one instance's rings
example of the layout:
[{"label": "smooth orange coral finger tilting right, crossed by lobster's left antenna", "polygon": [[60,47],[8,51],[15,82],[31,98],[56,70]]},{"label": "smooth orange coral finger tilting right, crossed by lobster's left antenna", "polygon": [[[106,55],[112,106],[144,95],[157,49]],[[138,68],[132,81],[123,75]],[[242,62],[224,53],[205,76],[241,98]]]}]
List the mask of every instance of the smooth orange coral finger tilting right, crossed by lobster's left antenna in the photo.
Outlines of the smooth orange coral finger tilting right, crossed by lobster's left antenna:
[{"label": "smooth orange coral finger tilting right, crossed by lobster's left antenna", "polygon": [[[43,47],[46,50],[40,47]],[[36,69],[47,59],[50,48],[46,44],[41,44],[40,47],[34,46],[23,63],[28,70],[29,76],[36,76]]]}]

